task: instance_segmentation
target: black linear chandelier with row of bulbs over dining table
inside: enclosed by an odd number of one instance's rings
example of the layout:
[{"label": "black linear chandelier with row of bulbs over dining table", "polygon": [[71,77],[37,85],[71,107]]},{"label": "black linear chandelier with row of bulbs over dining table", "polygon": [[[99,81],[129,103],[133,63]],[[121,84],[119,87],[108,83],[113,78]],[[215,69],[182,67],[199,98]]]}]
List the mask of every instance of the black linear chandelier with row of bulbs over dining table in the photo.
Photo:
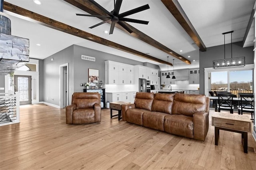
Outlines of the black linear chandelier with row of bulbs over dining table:
[{"label": "black linear chandelier with row of bulbs over dining table", "polygon": [[[232,57],[232,33],[234,31],[230,32],[224,32],[222,35],[224,35],[224,59],[218,59],[212,61],[212,67],[213,69],[227,69],[232,67],[245,67],[245,57]],[[225,49],[225,34],[231,33],[231,58],[226,59],[226,49]]]}]

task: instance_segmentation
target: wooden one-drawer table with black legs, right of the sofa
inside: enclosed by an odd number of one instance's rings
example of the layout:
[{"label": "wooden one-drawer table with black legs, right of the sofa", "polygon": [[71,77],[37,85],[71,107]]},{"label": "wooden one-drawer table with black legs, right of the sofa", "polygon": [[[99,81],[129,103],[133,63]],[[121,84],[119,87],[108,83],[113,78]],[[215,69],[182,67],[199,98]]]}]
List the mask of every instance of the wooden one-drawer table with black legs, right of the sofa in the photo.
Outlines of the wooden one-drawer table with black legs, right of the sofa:
[{"label": "wooden one-drawer table with black legs, right of the sofa", "polygon": [[248,153],[248,132],[252,132],[252,121],[246,115],[230,115],[214,113],[212,126],[215,127],[215,145],[218,145],[220,130],[227,130],[242,134],[244,153]]}]

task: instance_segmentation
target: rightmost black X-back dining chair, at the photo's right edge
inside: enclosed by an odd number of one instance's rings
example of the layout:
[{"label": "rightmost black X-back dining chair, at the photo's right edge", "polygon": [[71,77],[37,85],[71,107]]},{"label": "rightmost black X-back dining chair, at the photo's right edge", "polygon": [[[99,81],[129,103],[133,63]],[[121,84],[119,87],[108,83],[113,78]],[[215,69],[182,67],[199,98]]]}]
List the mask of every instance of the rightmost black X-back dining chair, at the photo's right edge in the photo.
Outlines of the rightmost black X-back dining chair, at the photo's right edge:
[{"label": "rightmost black X-back dining chair, at the photo's right edge", "polygon": [[240,102],[238,105],[238,115],[242,115],[243,112],[251,113],[251,120],[254,120],[253,113],[254,113],[254,95],[252,93],[240,93]]}]

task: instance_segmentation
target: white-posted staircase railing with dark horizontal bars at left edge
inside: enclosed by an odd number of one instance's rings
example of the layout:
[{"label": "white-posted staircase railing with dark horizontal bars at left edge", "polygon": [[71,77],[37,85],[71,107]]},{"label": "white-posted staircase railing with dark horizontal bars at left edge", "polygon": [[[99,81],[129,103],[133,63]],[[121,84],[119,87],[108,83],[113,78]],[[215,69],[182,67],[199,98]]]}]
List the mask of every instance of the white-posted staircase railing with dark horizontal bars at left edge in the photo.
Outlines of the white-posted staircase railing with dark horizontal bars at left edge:
[{"label": "white-posted staircase railing with dark horizontal bars at left edge", "polygon": [[20,94],[0,93],[0,126],[20,123]]}]

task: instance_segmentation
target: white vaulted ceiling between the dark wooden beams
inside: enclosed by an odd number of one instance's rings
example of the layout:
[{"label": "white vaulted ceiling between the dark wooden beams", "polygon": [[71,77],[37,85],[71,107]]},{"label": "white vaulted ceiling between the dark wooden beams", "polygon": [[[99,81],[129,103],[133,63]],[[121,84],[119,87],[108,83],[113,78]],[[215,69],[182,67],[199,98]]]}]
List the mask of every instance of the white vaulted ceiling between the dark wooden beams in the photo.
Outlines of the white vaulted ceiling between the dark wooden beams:
[{"label": "white vaulted ceiling between the dark wooden beams", "polygon": [[[149,55],[164,61],[167,61],[167,56],[170,56],[118,30],[118,28],[114,29],[112,35],[105,34],[105,30],[110,30],[108,23],[93,29],[88,28],[102,22],[102,20],[94,17],[76,16],[76,13],[87,13],[63,0],[41,0],[41,5],[35,4],[32,0],[5,1],[142,53],[149,53]],[[113,0],[96,0],[96,2],[108,11],[113,10]],[[222,33],[232,30],[234,30],[232,42],[242,41],[254,5],[254,0],[178,0],[178,2],[206,47],[224,44]],[[175,59],[175,69],[198,67],[198,46],[192,45],[193,40],[160,0],[123,0],[120,13],[145,4],[149,4],[150,9],[133,14],[129,18],[146,20],[149,21],[149,24],[128,24],[189,59],[192,63],[187,65],[170,56],[169,61],[171,63],[172,59]],[[28,18],[18,18],[16,14],[6,10],[4,10],[4,15],[8,16],[12,22],[12,35],[30,39],[31,58],[44,59],[72,44],[76,44],[141,62],[157,64],[162,70],[167,70],[167,66],[161,63],[30,22]],[[249,32],[250,36],[246,41],[247,46],[253,46],[253,34],[253,31]],[[230,41],[227,37],[226,43],[230,43]],[[38,43],[41,45],[36,45]],[[180,50],[183,51],[180,52]],[[188,58],[188,56],[191,57]]]}]

